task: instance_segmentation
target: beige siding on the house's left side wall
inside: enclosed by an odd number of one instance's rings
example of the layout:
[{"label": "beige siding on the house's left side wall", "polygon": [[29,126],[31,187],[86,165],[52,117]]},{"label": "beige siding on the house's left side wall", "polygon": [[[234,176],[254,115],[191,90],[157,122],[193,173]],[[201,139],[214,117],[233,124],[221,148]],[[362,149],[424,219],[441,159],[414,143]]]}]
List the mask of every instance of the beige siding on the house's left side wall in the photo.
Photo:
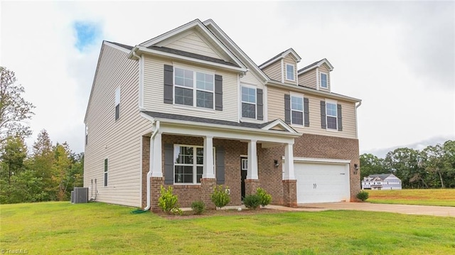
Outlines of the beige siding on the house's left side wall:
[{"label": "beige siding on the house's left side wall", "polygon": [[[87,110],[84,187],[97,179],[97,201],[141,205],[141,134],[150,123],[139,115],[139,62],[104,45]],[[115,89],[120,87],[120,116],[114,119]],[[108,182],[104,183],[104,159]],[[95,190],[93,190],[95,195]],[[89,197],[92,190],[89,189]]]}]

